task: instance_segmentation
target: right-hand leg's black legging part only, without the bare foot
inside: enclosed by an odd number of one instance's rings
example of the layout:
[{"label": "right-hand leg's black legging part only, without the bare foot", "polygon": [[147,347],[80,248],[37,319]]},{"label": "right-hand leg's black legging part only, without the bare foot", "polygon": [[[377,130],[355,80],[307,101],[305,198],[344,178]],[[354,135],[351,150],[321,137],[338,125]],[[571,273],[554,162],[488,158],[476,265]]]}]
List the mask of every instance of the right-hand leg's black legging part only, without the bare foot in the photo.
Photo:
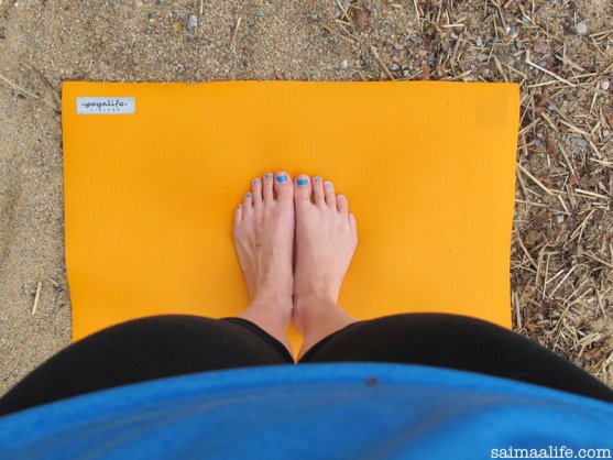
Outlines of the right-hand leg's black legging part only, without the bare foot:
[{"label": "right-hand leg's black legging part only, without the bare foot", "polygon": [[489,321],[404,314],[352,324],[299,361],[375,361],[479,372],[613,402],[613,391],[569,360]]}]

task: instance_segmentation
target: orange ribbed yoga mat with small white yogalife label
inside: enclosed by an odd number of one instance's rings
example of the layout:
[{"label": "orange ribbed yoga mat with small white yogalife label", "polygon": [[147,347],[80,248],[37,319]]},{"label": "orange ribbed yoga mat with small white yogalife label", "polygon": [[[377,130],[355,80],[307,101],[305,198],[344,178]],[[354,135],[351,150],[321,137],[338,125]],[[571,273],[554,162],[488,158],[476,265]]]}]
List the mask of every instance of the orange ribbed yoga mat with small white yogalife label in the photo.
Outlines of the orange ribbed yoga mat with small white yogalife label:
[{"label": "orange ribbed yoga mat with small white yogalife label", "polygon": [[150,315],[240,315],[233,211],[282,168],[348,197],[351,315],[511,327],[517,85],[66,81],[62,100],[74,340]]}]

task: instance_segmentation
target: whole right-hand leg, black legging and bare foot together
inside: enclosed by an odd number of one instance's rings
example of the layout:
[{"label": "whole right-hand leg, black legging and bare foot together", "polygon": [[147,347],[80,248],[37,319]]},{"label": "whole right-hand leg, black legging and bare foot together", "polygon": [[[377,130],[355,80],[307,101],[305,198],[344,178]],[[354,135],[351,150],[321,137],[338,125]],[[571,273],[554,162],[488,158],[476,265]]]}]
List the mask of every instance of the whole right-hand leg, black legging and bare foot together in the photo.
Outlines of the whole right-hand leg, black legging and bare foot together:
[{"label": "whole right-hand leg, black legging and bare foot together", "polygon": [[[299,180],[303,180],[299,183]],[[299,363],[383,361],[481,372],[613,401],[613,392],[570,361],[517,333],[458,315],[407,314],[358,321],[337,304],[357,247],[344,197],[321,178],[295,184],[294,321]]]}]

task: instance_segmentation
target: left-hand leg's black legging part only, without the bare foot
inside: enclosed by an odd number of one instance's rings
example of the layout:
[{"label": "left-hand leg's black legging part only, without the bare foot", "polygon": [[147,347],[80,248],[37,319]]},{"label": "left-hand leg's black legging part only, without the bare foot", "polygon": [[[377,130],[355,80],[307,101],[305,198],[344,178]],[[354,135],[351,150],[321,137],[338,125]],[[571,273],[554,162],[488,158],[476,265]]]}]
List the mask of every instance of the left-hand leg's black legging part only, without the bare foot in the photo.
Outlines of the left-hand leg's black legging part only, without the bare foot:
[{"label": "left-hand leg's black legging part only, without the bare foot", "polygon": [[152,379],[291,363],[283,343],[245,319],[153,316],[62,350],[0,398],[0,415]]}]

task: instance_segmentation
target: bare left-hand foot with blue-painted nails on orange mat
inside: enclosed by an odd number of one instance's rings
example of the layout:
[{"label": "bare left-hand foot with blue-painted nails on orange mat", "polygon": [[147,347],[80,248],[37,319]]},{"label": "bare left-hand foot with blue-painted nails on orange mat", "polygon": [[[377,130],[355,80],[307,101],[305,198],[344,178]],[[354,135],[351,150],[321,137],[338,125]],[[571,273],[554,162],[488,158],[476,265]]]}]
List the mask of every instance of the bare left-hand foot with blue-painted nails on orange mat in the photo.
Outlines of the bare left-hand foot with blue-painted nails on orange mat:
[{"label": "bare left-hand foot with blue-painted nails on orange mat", "polygon": [[294,187],[285,172],[252,180],[234,212],[232,236],[250,305],[241,318],[255,322],[292,353],[285,331],[292,320]]}]

